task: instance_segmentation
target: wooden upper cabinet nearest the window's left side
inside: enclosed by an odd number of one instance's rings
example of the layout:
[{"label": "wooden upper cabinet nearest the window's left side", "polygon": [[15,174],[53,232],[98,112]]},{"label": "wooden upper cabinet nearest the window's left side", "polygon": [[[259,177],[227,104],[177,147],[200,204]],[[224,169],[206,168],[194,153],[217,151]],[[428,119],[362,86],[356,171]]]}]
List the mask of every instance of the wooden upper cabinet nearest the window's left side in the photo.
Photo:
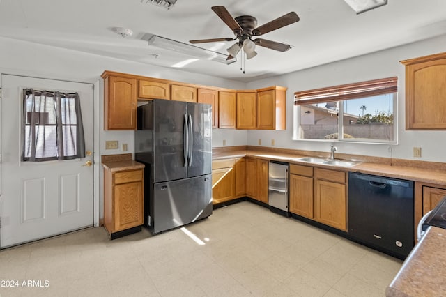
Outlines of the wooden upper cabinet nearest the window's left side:
[{"label": "wooden upper cabinet nearest the window's left side", "polygon": [[257,90],[257,129],[286,129],[286,88]]}]

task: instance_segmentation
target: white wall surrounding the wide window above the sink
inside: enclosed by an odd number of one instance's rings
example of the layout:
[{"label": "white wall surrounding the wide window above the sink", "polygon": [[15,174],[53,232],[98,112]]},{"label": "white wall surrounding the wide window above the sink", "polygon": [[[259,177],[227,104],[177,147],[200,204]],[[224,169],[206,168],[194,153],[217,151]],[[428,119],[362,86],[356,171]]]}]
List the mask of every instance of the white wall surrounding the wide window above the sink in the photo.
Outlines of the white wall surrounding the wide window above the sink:
[{"label": "white wall surrounding the wide window above the sink", "polygon": [[[279,85],[288,87],[286,92],[286,130],[285,131],[252,131],[247,132],[247,144],[256,146],[262,139],[264,146],[271,146],[275,139],[275,147],[293,148],[310,151],[330,150],[335,144],[339,153],[373,155],[387,158],[402,158],[434,162],[446,162],[446,131],[406,131],[405,130],[405,68],[399,61],[428,54],[445,52],[446,35],[424,40],[410,45],[395,47],[353,59],[301,70],[287,75],[261,79],[247,84],[248,89]],[[298,59],[298,58],[296,58]],[[316,57],[315,57],[316,59]],[[316,89],[324,86],[335,86],[369,79],[398,76],[398,138],[399,144],[349,144],[341,142],[293,141],[293,94],[295,91]],[[422,148],[422,158],[413,158],[413,146]]]}]

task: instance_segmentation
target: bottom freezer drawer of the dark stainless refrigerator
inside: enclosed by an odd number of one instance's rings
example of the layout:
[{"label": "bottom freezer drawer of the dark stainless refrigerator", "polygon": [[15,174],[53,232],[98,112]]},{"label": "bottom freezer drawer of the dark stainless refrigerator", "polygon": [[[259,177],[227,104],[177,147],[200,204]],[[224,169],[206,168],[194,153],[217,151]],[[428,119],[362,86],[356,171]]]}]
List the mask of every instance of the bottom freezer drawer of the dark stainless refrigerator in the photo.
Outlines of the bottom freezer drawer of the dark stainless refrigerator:
[{"label": "bottom freezer drawer of the dark stainless refrigerator", "polygon": [[153,233],[183,226],[212,214],[210,174],[153,185]]}]

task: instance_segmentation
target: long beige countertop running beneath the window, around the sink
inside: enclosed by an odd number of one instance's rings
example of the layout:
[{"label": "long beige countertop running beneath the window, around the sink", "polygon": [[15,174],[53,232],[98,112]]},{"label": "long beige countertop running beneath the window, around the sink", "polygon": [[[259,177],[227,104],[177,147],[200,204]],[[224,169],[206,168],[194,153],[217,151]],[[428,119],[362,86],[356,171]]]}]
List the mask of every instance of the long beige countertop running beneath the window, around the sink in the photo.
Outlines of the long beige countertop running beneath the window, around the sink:
[{"label": "long beige countertop running beneath the window, around the sink", "polygon": [[[446,185],[446,164],[444,170],[433,170],[423,167],[410,167],[402,165],[386,165],[374,162],[364,162],[358,160],[360,163],[353,167],[337,167],[332,165],[322,165],[317,163],[300,162],[296,158],[308,157],[308,155],[296,155],[290,153],[275,153],[270,151],[255,151],[255,150],[238,150],[238,151],[224,151],[213,153],[213,160],[224,158],[241,158],[241,157],[256,157],[268,160],[284,161],[291,164],[311,165],[313,167],[324,167],[327,169],[344,170],[346,172],[361,172],[364,174],[376,174],[379,176],[386,176],[392,178],[403,178],[412,181],[421,181],[424,183],[435,183],[437,185]],[[326,156],[321,156],[326,158]],[[346,159],[356,161],[354,158]],[[429,163],[429,162],[428,162]]]}]

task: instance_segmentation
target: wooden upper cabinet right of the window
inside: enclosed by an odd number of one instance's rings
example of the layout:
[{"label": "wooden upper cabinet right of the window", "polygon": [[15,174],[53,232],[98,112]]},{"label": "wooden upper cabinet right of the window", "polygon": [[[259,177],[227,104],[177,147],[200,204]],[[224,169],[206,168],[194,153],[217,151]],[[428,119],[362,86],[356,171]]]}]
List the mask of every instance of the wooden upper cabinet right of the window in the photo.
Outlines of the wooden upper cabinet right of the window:
[{"label": "wooden upper cabinet right of the window", "polygon": [[406,66],[406,130],[446,130],[446,52]]}]

